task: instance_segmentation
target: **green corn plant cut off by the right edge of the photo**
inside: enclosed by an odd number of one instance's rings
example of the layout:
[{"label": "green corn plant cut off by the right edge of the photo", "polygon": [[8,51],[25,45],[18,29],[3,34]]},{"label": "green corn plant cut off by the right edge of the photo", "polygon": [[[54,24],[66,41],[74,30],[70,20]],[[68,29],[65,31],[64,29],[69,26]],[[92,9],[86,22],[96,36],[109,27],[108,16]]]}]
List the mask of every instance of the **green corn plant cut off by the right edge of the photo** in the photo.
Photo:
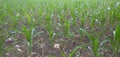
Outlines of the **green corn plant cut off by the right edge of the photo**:
[{"label": "green corn plant cut off by the right edge of the photo", "polygon": [[118,57],[120,51],[120,24],[116,27],[114,32],[114,39],[110,39],[113,56]]}]

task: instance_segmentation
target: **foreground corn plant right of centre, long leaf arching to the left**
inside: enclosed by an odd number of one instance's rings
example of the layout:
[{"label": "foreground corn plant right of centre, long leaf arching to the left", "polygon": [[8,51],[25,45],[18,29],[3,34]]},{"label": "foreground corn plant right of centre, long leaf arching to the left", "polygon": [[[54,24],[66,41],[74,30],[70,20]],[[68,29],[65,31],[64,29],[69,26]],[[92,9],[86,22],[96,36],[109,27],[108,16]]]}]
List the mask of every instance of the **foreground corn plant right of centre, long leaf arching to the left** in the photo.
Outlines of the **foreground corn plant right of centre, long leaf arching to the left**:
[{"label": "foreground corn plant right of centre, long leaf arching to the left", "polygon": [[89,39],[89,41],[92,44],[92,53],[93,53],[93,57],[100,57],[100,46],[99,46],[99,39],[94,37],[94,35],[89,34],[87,31],[85,31],[84,29],[80,28],[80,33],[83,33],[84,35],[86,35]]}]

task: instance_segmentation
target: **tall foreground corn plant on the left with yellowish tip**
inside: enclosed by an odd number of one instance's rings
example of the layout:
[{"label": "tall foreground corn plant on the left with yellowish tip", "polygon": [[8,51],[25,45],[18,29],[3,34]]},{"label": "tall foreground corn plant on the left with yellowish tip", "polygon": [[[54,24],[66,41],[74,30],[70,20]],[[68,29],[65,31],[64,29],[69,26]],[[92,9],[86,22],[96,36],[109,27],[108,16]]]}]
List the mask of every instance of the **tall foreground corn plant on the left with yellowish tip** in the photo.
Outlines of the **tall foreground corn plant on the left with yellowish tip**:
[{"label": "tall foreground corn plant on the left with yellowish tip", "polygon": [[[33,38],[34,38],[34,32],[35,32],[35,26],[33,23],[33,20],[31,19],[30,15],[26,13],[27,16],[27,26],[23,25],[22,26],[22,33],[25,36],[26,40],[27,40],[27,46],[28,46],[28,50],[29,50],[29,56],[31,57],[32,55],[32,47],[33,47]],[[30,25],[30,27],[28,28],[28,26]]]}]

